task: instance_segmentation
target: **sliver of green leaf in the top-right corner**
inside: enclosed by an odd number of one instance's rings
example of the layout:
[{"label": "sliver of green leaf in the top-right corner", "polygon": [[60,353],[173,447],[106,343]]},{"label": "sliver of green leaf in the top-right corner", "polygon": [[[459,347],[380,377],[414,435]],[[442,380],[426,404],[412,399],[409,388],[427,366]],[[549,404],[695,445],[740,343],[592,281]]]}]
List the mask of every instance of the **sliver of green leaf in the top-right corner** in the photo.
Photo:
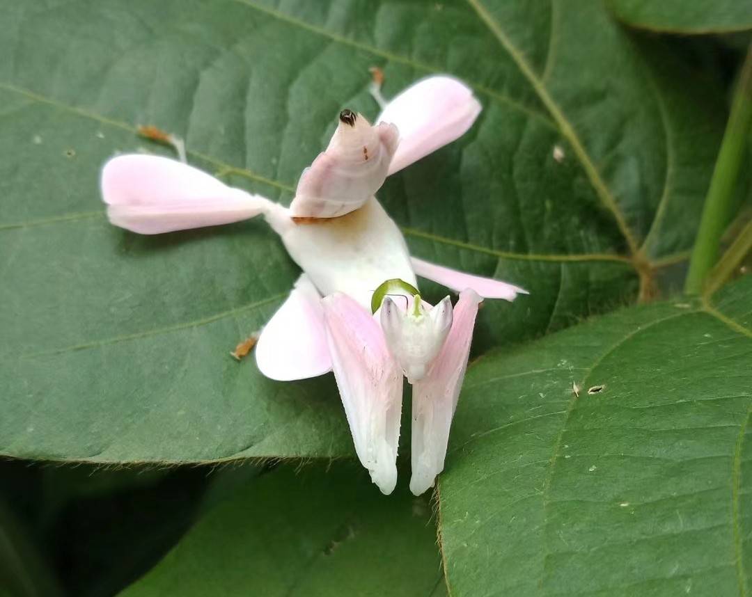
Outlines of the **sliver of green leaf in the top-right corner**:
[{"label": "sliver of green leaf in the top-right corner", "polygon": [[669,33],[726,33],[752,29],[752,4],[744,0],[605,0],[629,26]]}]

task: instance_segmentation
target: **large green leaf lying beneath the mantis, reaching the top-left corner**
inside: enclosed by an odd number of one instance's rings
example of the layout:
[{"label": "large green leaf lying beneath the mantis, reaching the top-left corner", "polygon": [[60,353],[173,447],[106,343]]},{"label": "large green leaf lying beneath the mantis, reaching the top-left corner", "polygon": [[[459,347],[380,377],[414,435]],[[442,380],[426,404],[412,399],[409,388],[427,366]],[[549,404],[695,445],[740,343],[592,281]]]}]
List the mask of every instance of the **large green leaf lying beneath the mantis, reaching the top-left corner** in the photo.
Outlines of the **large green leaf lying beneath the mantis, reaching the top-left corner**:
[{"label": "large green leaf lying beneath the mantis, reaching the top-left corner", "polygon": [[[0,453],[89,462],[351,454],[332,378],[227,353],[298,274],[262,222],[143,238],[102,214],[116,151],[290,200],[344,105],[447,71],[484,112],[380,197],[417,256],[526,286],[476,346],[650,293],[690,247],[723,110],[597,2],[0,2]],[[614,76],[614,72],[617,76]],[[698,91],[702,89],[702,91]],[[556,155],[556,157],[554,157]],[[435,285],[426,295],[441,296]]]}]

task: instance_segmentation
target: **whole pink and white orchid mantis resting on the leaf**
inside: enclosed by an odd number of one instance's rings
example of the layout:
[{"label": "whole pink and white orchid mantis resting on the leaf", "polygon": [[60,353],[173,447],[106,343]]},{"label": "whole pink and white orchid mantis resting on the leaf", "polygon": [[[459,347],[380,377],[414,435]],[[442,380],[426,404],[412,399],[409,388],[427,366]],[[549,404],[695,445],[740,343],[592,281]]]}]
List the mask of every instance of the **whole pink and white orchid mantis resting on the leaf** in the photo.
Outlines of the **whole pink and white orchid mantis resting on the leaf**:
[{"label": "whole pink and white orchid mantis resting on the leaf", "polygon": [[[411,257],[374,196],[388,175],[459,138],[480,112],[472,91],[447,76],[406,89],[375,126],[342,111],[289,208],[163,157],[118,156],[102,171],[116,226],[159,234],[261,215],[280,235],[303,273],[262,330],[256,365],[281,381],[333,371],[357,456],[385,494],[397,480],[403,377],[413,386],[410,487],[420,495],[444,468],[478,305],[526,293]],[[417,276],[458,291],[459,301],[429,305]]]}]

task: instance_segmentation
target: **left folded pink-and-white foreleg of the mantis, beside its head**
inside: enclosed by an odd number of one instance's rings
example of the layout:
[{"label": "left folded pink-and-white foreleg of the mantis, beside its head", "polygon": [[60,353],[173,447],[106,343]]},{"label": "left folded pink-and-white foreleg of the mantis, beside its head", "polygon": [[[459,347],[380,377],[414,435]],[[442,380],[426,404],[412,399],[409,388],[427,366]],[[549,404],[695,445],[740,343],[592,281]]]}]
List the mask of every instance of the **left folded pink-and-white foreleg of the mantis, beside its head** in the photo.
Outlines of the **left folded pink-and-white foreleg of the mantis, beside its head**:
[{"label": "left folded pink-and-white foreleg of the mantis, beside its head", "polygon": [[323,299],[326,335],[358,458],[381,492],[397,483],[402,371],[374,317],[349,296]]}]

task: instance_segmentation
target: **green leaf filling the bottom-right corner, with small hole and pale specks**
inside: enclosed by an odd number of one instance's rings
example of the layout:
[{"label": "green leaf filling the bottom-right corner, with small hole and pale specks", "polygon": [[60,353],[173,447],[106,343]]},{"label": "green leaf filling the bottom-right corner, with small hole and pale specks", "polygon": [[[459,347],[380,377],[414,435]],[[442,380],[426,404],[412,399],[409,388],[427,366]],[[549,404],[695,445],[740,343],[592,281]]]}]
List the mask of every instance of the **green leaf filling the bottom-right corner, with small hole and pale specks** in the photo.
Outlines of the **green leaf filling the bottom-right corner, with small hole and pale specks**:
[{"label": "green leaf filling the bottom-right corner, with small hole and pale specks", "polygon": [[750,305],[747,276],[469,368],[440,477],[452,595],[747,594]]}]

